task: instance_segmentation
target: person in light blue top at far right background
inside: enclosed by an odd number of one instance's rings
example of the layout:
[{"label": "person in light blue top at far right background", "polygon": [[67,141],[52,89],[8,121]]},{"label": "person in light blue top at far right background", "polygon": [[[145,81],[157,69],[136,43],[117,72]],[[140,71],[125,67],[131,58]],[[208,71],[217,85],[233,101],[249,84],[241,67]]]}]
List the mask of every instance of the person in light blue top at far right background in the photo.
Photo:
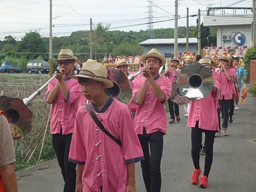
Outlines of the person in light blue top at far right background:
[{"label": "person in light blue top at far right background", "polygon": [[[238,79],[238,84],[237,84],[237,89],[238,89],[238,93],[239,93],[239,96],[240,96],[240,88],[243,87],[243,84],[242,84],[242,79],[243,81],[246,81],[247,79],[247,76],[246,76],[246,72],[244,70],[244,67],[241,66],[241,64],[239,63],[239,58],[234,58],[233,59],[233,64],[234,66],[237,67],[237,70],[236,70],[236,77]],[[235,100],[235,109],[236,110],[239,110],[239,107],[238,107],[238,102],[239,102],[239,97],[236,98]]]}]

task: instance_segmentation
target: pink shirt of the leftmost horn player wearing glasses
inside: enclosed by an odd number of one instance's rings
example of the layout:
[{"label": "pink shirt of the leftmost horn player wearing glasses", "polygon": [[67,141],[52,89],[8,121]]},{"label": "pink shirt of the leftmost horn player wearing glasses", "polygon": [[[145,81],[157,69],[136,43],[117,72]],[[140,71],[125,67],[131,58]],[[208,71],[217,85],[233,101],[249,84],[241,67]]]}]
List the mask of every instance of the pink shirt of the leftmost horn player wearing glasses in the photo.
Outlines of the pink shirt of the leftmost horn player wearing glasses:
[{"label": "pink shirt of the leftmost horn player wearing glasses", "polygon": [[[51,134],[70,134],[73,132],[76,111],[84,105],[86,98],[81,92],[81,87],[76,79],[68,78],[64,81],[68,88],[67,101],[64,99],[61,88],[52,103],[51,109]],[[58,79],[53,79],[48,84],[48,90],[44,96],[47,99],[49,92],[58,84]]]}]

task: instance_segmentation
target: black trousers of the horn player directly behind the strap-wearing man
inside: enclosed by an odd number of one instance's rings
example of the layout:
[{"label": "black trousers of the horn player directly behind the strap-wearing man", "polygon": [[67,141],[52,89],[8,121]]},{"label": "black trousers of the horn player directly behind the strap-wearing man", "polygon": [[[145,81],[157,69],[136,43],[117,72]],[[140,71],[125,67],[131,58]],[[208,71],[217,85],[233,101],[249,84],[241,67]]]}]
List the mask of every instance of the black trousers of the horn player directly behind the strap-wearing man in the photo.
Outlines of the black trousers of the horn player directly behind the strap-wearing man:
[{"label": "black trousers of the horn player directly behind the strap-wearing man", "polygon": [[140,161],[140,165],[147,192],[160,192],[161,190],[160,164],[163,154],[163,135],[160,131],[146,134],[145,128],[143,135],[138,135],[145,158]]}]

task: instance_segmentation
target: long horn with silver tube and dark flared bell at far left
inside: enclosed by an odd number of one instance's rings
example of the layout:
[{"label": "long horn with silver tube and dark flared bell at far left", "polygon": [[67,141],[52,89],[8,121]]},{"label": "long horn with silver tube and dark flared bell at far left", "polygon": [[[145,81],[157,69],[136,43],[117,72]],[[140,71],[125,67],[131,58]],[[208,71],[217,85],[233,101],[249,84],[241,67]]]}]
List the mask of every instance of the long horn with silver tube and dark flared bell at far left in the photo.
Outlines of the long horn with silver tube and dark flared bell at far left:
[{"label": "long horn with silver tube and dark flared bell at far left", "polygon": [[[57,74],[56,74],[57,75]],[[52,76],[45,84],[36,90],[28,98],[12,98],[7,96],[0,96],[0,110],[4,111],[8,116],[10,126],[13,130],[12,137],[15,140],[20,139],[24,134],[32,130],[32,112],[27,108],[27,105],[35,99],[36,96],[41,94],[44,87],[49,84],[55,76]]]}]

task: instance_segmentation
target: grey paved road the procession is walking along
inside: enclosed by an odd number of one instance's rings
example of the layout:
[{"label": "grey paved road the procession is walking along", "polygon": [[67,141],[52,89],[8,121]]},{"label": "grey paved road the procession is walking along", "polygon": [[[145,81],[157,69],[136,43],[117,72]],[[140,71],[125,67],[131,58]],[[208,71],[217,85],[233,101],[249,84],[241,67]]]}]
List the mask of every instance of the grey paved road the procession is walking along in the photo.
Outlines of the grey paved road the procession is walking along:
[{"label": "grey paved road the procession is walking along", "polygon": [[[184,114],[180,107],[181,117]],[[190,183],[190,128],[186,119],[168,125],[164,136],[162,192],[255,192],[256,191],[256,98],[249,96],[244,107],[235,111],[229,137],[215,138],[209,187]],[[168,114],[169,117],[169,114]],[[204,156],[201,156],[204,167]],[[17,173],[19,192],[62,192],[63,179],[56,160]],[[145,192],[140,163],[136,165],[137,192]]]}]

